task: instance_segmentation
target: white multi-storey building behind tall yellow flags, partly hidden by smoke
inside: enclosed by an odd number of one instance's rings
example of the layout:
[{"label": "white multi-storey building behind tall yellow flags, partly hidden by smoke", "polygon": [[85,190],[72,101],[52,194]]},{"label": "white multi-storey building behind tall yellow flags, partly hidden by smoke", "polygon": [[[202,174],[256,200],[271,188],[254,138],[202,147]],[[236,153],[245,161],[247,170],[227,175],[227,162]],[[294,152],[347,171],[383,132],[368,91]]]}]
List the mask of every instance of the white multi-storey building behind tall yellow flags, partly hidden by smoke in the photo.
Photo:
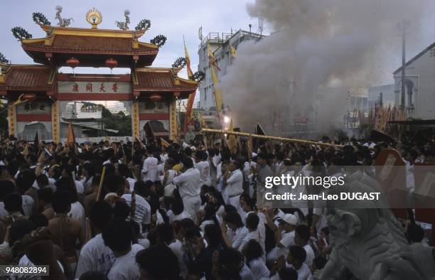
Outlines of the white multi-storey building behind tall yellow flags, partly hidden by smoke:
[{"label": "white multi-storey building behind tall yellow flags, partly hidden by smoke", "polygon": [[[217,60],[220,71],[218,79],[225,75],[227,67],[231,64],[230,45],[237,50],[238,45],[248,40],[260,40],[265,36],[259,33],[239,30],[235,33],[208,33],[199,45],[198,70],[205,73],[205,79],[200,82],[200,102],[199,109],[215,110],[216,100],[213,95],[213,80],[210,74],[210,63],[208,59],[208,43],[213,50],[213,55]],[[225,100],[224,100],[225,102]]]}]

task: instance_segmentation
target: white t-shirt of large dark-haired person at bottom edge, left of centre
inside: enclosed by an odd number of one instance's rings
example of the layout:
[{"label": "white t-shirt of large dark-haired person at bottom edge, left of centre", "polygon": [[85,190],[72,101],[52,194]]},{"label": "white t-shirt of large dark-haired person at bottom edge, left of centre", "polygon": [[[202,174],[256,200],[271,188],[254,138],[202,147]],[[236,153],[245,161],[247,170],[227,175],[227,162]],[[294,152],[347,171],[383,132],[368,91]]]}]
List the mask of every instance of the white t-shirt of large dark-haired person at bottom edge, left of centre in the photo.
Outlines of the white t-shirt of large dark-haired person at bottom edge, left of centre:
[{"label": "white t-shirt of large dark-haired person at bottom edge, left of centre", "polygon": [[137,252],[144,249],[139,244],[131,245],[131,251],[124,256],[117,257],[112,268],[107,274],[109,280],[139,280],[141,272],[136,264]]}]

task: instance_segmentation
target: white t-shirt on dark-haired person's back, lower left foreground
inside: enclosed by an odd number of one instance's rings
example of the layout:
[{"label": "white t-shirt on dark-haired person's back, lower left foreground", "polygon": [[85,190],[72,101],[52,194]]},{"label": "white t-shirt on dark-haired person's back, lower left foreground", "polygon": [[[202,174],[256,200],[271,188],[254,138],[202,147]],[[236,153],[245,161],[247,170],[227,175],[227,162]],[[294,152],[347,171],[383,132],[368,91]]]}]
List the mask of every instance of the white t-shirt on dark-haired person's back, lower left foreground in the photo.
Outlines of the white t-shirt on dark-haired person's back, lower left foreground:
[{"label": "white t-shirt on dark-haired person's back, lower left foreground", "polygon": [[102,235],[95,235],[80,251],[75,278],[80,278],[87,271],[101,271],[107,274],[114,261],[114,254],[109,247],[104,245]]}]

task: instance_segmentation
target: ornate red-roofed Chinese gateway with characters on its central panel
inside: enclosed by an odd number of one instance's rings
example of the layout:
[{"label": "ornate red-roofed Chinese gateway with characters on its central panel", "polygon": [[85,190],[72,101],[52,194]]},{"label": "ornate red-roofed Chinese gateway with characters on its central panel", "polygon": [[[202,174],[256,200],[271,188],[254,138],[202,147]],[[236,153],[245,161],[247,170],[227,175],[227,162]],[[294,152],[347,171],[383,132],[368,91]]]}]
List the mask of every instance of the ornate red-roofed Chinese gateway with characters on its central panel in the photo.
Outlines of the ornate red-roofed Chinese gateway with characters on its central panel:
[{"label": "ornate red-roofed Chinese gateway with characters on its central panel", "polygon": [[[176,101],[188,98],[198,83],[178,77],[181,68],[151,68],[159,45],[139,41],[146,29],[99,29],[101,19],[94,9],[87,14],[91,28],[39,24],[45,38],[21,40],[23,50],[38,64],[2,67],[0,95],[8,99],[9,135],[33,140],[38,131],[39,139],[58,142],[67,137],[72,123],[77,139],[118,136],[104,126],[101,108],[123,104],[124,115],[131,115],[131,135],[123,136],[143,136],[147,122],[160,128],[156,136],[176,136]],[[131,72],[65,74],[59,71],[64,66],[120,67]],[[11,105],[20,96],[28,97],[28,102]]]}]

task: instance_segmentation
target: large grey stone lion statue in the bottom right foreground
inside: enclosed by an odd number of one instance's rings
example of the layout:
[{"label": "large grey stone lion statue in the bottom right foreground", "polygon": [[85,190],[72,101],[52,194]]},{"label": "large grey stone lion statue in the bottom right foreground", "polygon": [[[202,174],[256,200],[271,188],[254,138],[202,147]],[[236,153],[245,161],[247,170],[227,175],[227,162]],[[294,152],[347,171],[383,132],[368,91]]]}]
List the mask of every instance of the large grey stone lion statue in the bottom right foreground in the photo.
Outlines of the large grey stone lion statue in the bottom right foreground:
[{"label": "large grey stone lion statue in the bottom right foreground", "polygon": [[[329,193],[342,191],[382,192],[373,178],[360,171]],[[327,203],[326,218],[333,250],[316,279],[435,279],[435,248],[409,245],[385,198]]]}]

